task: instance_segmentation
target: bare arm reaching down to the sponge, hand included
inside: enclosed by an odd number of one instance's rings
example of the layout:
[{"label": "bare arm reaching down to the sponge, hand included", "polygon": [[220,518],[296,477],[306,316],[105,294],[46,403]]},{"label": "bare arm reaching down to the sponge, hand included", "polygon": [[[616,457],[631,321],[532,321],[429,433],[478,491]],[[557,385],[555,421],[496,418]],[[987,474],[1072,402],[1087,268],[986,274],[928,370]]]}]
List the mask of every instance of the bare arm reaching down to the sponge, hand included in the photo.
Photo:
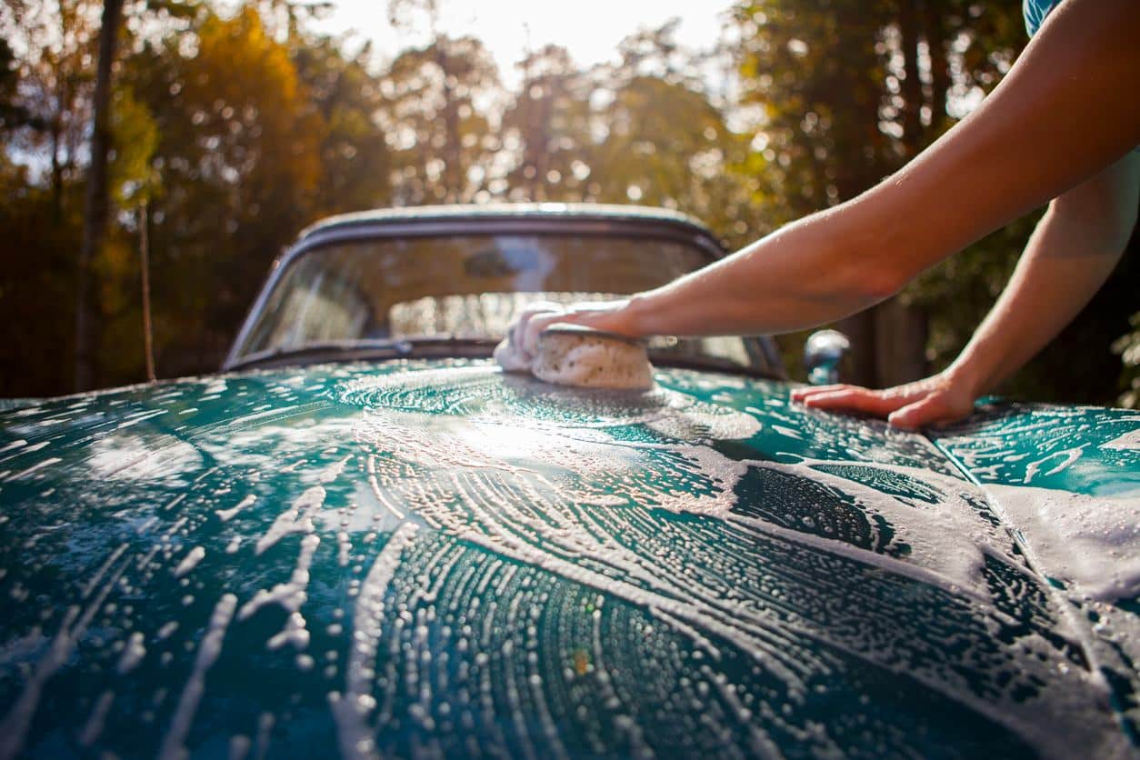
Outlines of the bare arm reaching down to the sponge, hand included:
[{"label": "bare arm reaching down to the sponge, hand included", "polygon": [[1137,39],[1134,0],[1066,0],[982,106],[893,177],[616,307],[531,319],[526,345],[554,321],[632,335],[779,333],[883,300],[1140,142]]}]

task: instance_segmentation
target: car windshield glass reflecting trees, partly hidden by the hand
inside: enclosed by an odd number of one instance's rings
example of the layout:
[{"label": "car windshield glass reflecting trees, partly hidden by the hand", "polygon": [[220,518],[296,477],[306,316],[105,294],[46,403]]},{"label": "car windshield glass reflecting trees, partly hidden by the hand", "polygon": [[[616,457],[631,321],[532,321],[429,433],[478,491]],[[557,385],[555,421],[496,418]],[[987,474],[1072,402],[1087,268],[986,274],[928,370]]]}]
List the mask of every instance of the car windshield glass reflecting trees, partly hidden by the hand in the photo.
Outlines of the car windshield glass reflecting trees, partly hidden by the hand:
[{"label": "car windshield glass reflecting trees, partly hidden by the hand", "polygon": [[[658,287],[708,255],[685,242],[619,235],[451,235],[352,240],[295,258],[237,361],[315,345],[498,340],[535,301],[602,301]],[[657,338],[654,359],[769,370],[755,341]]]}]

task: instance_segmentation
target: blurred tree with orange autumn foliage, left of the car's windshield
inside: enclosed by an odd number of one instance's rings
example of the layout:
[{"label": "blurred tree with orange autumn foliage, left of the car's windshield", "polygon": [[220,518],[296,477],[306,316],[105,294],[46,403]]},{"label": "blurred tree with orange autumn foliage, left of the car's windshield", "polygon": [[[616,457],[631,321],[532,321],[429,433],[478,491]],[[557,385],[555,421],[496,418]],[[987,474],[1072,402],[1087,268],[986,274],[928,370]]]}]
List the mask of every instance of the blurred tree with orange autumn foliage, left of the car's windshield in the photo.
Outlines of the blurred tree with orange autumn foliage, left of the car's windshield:
[{"label": "blurred tree with orange autumn foliage, left of the car's windshield", "polygon": [[197,371],[220,361],[269,263],[316,215],[325,124],[286,44],[251,8],[206,13],[128,64],[161,136],[150,213],[160,374]]}]

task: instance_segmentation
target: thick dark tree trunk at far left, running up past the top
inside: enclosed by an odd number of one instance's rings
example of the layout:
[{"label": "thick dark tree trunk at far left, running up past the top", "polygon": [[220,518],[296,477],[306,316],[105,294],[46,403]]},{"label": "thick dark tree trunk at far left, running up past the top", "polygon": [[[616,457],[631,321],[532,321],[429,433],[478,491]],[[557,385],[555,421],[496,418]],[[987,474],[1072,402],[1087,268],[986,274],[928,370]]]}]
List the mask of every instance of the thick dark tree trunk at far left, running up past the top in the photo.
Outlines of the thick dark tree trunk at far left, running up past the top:
[{"label": "thick dark tree trunk at far left, running up past the top", "polygon": [[109,215],[107,152],[111,148],[111,66],[123,0],[104,0],[99,28],[99,63],[92,99],[91,166],[87,173],[87,202],[83,212],[83,244],[79,253],[75,302],[75,390],[92,387],[96,376],[96,288],[91,261],[103,246]]}]

